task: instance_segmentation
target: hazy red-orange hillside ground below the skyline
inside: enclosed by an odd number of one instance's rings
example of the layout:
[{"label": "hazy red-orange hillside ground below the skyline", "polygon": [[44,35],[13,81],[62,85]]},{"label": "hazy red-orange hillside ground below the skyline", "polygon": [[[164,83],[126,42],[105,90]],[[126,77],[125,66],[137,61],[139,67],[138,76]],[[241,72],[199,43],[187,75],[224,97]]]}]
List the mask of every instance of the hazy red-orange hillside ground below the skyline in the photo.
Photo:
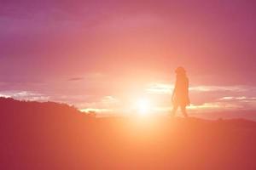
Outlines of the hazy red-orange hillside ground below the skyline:
[{"label": "hazy red-orange hillside ground below the skyline", "polygon": [[256,123],[93,118],[0,99],[0,169],[256,169]]}]

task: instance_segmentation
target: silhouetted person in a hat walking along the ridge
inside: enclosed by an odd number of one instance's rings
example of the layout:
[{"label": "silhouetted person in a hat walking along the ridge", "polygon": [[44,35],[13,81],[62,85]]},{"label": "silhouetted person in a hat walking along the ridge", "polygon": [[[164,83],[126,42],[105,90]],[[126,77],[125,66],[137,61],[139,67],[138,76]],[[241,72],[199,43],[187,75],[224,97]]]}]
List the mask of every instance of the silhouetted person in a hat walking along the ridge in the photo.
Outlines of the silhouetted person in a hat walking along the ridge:
[{"label": "silhouetted person in a hat walking along the ridge", "polygon": [[184,117],[188,117],[186,106],[189,101],[189,79],[183,67],[179,66],[175,70],[176,82],[172,93],[172,115],[175,116],[177,108],[180,107]]}]

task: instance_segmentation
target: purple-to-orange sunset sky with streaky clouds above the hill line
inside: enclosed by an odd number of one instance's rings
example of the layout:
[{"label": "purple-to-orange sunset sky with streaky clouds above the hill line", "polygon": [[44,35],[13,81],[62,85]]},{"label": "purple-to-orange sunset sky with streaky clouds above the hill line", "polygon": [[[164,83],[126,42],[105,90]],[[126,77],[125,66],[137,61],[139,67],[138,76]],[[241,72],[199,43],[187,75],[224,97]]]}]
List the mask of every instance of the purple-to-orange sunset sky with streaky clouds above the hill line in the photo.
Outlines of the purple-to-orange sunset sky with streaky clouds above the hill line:
[{"label": "purple-to-orange sunset sky with streaky clouds above the hill line", "polygon": [[[0,96],[125,113],[256,109],[256,1],[0,1]],[[87,110],[86,110],[87,109]]]}]

